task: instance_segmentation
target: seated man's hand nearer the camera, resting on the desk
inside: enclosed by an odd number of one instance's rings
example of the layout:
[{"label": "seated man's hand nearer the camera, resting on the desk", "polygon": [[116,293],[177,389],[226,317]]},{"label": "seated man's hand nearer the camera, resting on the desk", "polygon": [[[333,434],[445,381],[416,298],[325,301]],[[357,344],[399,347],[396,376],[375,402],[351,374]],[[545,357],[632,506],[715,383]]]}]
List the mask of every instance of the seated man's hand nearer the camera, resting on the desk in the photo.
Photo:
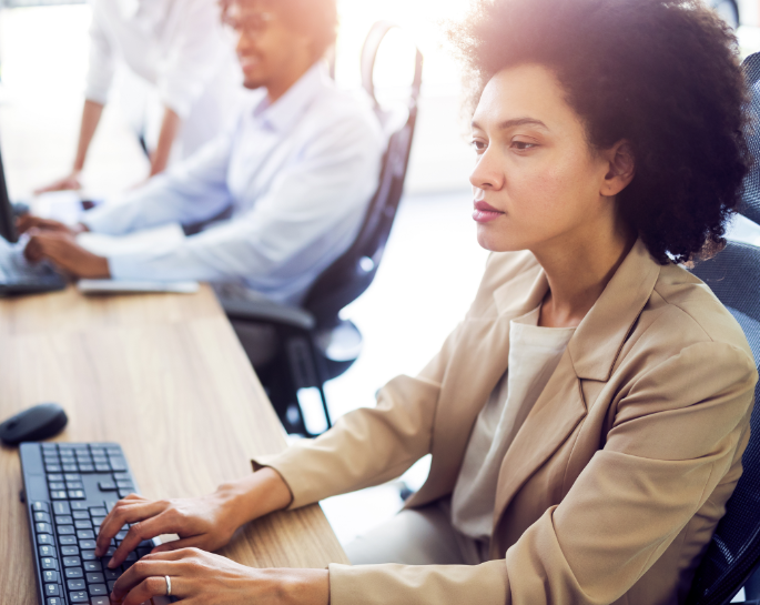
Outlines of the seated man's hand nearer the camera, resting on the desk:
[{"label": "seated man's hand nearer the camera, resting on the desk", "polygon": [[71,233],[32,229],[29,235],[30,240],[23,254],[30,262],[47,259],[75,278],[111,276],[108,259],[84,250]]}]

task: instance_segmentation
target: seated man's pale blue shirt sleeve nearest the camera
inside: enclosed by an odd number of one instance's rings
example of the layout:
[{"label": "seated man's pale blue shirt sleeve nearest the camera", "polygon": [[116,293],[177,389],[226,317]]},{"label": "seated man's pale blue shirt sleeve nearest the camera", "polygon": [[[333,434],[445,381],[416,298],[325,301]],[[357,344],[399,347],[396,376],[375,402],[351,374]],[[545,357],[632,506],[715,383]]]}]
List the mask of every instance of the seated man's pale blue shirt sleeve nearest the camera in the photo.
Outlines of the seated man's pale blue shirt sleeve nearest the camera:
[{"label": "seated man's pale blue shirt sleeve nearest the camera", "polygon": [[[116,279],[244,280],[261,292],[346,249],[377,185],[382,135],[365,122],[330,124],[246,214],[171,250],[109,259]],[[303,286],[304,284],[294,284]]]}]

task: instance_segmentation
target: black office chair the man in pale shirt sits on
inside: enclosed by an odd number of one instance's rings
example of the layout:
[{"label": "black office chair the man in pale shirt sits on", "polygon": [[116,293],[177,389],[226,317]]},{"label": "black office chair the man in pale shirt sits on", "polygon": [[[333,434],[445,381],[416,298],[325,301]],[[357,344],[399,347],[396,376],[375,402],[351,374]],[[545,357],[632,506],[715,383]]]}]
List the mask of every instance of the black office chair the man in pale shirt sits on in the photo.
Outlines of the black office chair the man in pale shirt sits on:
[{"label": "black office chair the man in pale shirt sits on", "polygon": [[[265,324],[276,332],[278,350],[275,357],[263,366],[254,365],[288,433],[313,436],[298,404],[301,389],[315,387],[318,391],[326,425],[332,425],[324,383],[344,373],[362,349],[361,332],[353,322],[341,319],[340,312],[374,280],[402,198],[417,120],[423,56],[416,50],[408,98],[397,107],[382,107],[375,95],[374,67],[381,43],[394,27],[387,21],[375,23],[362,50],[362,83],[373,101],[387,148],[378,189],[352,246],[317,278],[301,309],[225,292],[224,289],[217,291],[239,335],[246,324]],[[250,359],[253,362],[251,355]]]}]

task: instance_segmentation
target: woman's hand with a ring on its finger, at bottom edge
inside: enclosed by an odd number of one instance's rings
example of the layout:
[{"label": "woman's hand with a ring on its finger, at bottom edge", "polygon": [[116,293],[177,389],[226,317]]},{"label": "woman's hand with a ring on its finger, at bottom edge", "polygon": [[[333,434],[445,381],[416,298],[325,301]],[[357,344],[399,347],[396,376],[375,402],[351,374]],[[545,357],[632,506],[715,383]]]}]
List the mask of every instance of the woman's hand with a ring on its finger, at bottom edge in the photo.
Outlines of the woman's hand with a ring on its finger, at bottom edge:
[{"label": "woman's hand with a ring on its finger, at bottom edge", "polygon": [[122,605],[140,605],[166,594],[196,605],[327,605],[326,569],[256,569],[197,548],[146,555],[132,565],[113,586],[111,598]]}]

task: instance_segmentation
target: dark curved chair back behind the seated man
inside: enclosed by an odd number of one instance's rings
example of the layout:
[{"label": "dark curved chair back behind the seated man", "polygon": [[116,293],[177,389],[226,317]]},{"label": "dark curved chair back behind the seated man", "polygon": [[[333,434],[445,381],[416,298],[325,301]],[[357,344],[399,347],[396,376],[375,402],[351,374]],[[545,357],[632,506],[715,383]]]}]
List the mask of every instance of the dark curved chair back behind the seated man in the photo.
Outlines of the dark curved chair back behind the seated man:
[{"label": "dark curved chair back behind the seated man", "polygon": [[364,223],[352,246],[317,278],[303,306],[316,319],[317,327],[334,327],[338,313],[356,300],[372,283],[396,218],[409,163],[412,139],[417,121],[417,99],[423,77],[423,56],[417,50],[414,81],[405,107],[386,110],[375,97],[373,72],[375,58],[393,23],[375,23],[362,50],[363,84],[374,102],[388,141],[383,158],[379,185],[369,203]]}]

